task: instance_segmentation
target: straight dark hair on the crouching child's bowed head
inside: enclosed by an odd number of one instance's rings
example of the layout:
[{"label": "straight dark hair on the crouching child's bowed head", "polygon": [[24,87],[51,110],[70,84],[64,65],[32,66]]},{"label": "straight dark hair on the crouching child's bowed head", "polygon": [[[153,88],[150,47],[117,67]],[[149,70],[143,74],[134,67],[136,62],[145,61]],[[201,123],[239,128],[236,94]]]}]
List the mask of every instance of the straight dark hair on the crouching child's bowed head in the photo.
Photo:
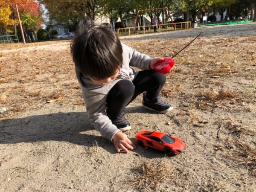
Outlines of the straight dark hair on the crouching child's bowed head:
[{"label": "straight dark hair on the crouching child's bowed head", "polygon": [[106,79],[122,67],[122,44],[110,25],[83,23],[70,47],[76,67],[86,77]]}]

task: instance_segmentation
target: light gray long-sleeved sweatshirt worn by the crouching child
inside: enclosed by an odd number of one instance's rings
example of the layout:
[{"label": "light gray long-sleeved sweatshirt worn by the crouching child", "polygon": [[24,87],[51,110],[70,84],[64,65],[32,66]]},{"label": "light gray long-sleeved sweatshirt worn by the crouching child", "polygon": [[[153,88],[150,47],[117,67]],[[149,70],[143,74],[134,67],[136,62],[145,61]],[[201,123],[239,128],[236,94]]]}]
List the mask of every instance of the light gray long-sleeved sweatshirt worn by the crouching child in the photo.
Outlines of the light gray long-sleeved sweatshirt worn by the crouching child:
[{"label": "light gray long-sleeved sweatshirt worn by the crouching child", "polygon": [[90,123],[100,132],[100,134],[112,141],[113,136],[120,130],[113,125],[106,113],[106,99],[108,92],[120,80],[127,79],[133,81],[137,73],[133,67],[141,70],[149,70],[151,57],[137,52],[135,49],[122,44],[123,63],[122,69],[119,70],[119,75],[116,79],[108,84],[94,84],[89,78],[83,76],[76,68],[76,76],[81,85],[82,96],[86,104],[87,114]]}]

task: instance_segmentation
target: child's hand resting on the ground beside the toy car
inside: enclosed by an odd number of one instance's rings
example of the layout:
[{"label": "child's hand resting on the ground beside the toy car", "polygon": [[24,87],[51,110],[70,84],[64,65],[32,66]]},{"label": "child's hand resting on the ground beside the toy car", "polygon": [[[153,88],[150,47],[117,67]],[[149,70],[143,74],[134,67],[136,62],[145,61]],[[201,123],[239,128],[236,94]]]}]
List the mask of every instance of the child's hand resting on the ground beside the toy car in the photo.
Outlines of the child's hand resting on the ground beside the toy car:
[{"label": "child's hand resting on the ground beside the toy car", "polygon": [[127,135],[122,132],[117,132],[112,140],[118,153],[121,150],[128,153],[129,150],[134,150],[136,148],[131,140],[128,139]]}]

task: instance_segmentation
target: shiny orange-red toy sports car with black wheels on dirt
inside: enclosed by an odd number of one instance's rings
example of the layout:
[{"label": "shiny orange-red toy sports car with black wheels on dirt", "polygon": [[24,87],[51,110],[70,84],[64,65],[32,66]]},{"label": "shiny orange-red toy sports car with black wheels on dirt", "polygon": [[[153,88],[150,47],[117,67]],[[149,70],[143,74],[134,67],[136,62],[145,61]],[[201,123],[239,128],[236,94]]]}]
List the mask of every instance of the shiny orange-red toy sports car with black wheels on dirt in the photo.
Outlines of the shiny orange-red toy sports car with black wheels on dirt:
[{"label": "shiny orange-red toy sports car with black wheels on dirt", "polygon": [[175,155],[185,150],[185,144],[176,137],[153,131],[140,131],[136,134],[137,145],[164,151],[167,155]]}]

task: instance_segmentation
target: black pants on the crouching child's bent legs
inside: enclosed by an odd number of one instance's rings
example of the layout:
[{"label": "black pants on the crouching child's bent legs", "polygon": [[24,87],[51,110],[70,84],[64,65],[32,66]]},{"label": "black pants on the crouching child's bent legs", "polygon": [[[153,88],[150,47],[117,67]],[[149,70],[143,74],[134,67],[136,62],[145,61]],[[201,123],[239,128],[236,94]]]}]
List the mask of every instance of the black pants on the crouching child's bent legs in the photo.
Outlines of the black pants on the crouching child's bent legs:
[{"label": "black pants on the crouching child's bent legs", "polygon": [[133,82],[118,81],[107,96],[108,116],[112,119],[120,116],[125,106],[132,102],[140,93],[146,91],[147,99],[156,98],[166,82],[166,75],[154,70],[140,71]]}]

